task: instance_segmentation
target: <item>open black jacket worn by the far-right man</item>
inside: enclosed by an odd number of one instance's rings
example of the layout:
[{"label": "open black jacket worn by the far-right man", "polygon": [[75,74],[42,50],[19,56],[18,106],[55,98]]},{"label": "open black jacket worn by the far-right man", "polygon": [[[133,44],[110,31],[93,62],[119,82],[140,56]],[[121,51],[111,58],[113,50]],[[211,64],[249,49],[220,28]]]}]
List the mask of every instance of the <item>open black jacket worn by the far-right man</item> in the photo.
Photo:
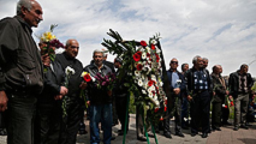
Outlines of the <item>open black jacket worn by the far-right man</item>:
[{"label": "open black jacket worn by the far-right man", "polygon": [[[229,75],[229,89],[232,96],[237,96],[239,88],[239,71],[233,72]],[[251,92],[253,86],[253,79],[250,73],[246,73],[248,93]]]}]

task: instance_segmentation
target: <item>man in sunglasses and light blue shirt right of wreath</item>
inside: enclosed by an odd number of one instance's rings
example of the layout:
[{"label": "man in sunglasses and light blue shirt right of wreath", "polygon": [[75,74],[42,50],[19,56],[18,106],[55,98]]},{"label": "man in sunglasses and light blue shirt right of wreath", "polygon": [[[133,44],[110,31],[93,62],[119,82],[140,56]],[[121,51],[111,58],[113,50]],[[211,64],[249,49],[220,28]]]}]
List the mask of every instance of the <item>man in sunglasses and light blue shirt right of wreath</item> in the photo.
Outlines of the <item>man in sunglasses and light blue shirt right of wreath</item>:
[{"label": "man in sunglasses and light blue shirt right of wreath", "polygon": [[[181,131],[181,90],[185,90],[184,81],[182,81],[182,74],[177,71],[178,60],[172,58],[170,62],[170,69],[167,71],[167,76],[170,81],[170,87],[172,91],[174,102],[174,115],[175,115],[175,135],[184,137]],[[168,102],[168,101],[167,101]],[[170,118],[172,109],[169,107],[171,104],[167,104],[167,118],[164,120],[164,136],[172,138],[170,130]]]}]

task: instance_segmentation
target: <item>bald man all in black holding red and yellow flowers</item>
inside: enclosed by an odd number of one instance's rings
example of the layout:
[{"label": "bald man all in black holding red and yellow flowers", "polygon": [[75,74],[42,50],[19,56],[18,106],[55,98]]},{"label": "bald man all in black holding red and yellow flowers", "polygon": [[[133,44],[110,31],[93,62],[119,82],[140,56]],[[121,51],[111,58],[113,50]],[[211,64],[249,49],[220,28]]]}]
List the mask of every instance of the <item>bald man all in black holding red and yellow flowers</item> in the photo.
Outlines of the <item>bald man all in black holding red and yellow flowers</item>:
[{"label": "bald man all in black holding red and yellow flowers", "polygon": [[80,122],[84,116],[85,102],[80,98],[81,87],[84,87],[81,73],[83,72],[82,63],[76,59],[79,51],[79,43],[75,39],[67,40],[65,52],[56,55],[62,68],[67,66],[75,70],[75,74],[69,77],[68,93],[67,93],[67,116],[61,126],[61,144],[75,144],[76,134],[78,133]]}]

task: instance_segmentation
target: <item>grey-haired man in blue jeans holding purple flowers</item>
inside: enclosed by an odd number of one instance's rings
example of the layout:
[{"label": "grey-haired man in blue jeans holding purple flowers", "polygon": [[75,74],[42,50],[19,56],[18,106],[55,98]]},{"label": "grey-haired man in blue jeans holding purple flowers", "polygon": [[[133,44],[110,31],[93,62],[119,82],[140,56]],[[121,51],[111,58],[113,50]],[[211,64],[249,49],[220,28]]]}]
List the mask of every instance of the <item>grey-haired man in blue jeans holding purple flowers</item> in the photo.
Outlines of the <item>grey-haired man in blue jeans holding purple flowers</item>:
[{"label": "grey-haired man in blue jeans holding purple flowers", "polygon": [[91,64],[84,68],[88,73],[87,92],[90,105],[90,141],[100,143],[98,123],[103,129],[104,144],[111,143],[112,135],[112,88],[115,79],[109,66],[103,62],[103,51],[94,50]]}]

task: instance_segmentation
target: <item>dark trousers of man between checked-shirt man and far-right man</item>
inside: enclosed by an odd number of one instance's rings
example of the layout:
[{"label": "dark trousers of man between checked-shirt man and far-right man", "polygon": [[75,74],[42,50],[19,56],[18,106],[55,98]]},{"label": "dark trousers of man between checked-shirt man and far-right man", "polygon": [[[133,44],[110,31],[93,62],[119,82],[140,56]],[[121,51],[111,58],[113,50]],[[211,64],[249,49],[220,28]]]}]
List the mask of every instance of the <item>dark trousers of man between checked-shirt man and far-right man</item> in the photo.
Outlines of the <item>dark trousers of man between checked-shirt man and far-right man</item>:
[{"label": "dark trousers of man between checked-shirt man and far-right man", "polygon": [[221,102],[212,102],[212,127],[220,127],[221,125]]}]

